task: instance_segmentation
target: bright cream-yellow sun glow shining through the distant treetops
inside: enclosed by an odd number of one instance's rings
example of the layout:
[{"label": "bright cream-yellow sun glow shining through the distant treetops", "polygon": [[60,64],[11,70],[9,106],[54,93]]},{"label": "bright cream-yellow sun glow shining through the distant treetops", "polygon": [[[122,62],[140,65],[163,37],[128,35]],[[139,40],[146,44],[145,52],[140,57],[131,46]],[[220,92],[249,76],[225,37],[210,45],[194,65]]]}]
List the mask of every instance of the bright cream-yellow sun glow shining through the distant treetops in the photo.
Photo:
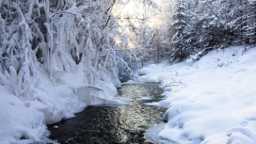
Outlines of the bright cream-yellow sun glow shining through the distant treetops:
[{"label": "bright cream-yellow sun glow shining through the distant treetops", "polygon": [[[156,14],[159,11],[157,8],[152,8],[146,3],[129,0],[121,5],[116,5],[112,8],[112,14],[117,18],[117,23],[120,25],[120,31],[128,36],[127,48],[136,48],[136,29],[142,27],[158,28],[161,21]],[[121,44],[122,40],[116,39],[116,44]]]}]

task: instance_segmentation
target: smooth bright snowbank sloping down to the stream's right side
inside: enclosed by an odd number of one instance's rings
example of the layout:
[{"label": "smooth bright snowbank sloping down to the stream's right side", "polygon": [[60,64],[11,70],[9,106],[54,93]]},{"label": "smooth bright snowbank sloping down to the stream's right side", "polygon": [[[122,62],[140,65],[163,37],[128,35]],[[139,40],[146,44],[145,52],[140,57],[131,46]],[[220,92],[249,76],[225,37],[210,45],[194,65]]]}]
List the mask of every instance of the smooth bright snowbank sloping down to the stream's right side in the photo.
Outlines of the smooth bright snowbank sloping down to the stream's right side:
[{"label": "smooth bright snowbank sloping down to the stream's right side", "polygon": [[168,123],[152,130],[181,144],[255,144],[256,48],[243,50],[218,49],[193,64],[140,70],[140,80],[165,88],[165,99],[154,105],[168,107],[163,117]]}]

